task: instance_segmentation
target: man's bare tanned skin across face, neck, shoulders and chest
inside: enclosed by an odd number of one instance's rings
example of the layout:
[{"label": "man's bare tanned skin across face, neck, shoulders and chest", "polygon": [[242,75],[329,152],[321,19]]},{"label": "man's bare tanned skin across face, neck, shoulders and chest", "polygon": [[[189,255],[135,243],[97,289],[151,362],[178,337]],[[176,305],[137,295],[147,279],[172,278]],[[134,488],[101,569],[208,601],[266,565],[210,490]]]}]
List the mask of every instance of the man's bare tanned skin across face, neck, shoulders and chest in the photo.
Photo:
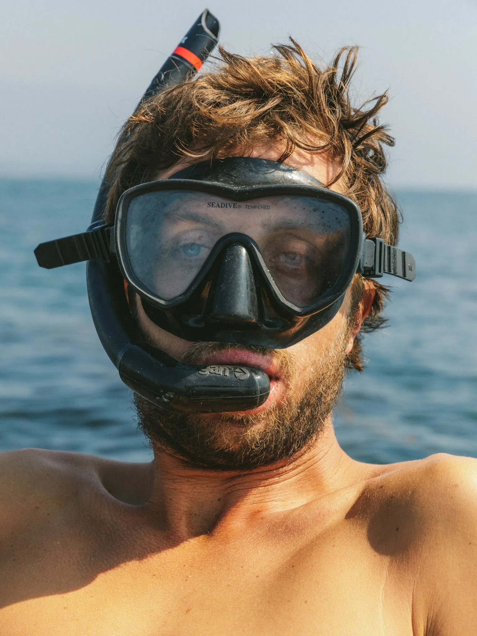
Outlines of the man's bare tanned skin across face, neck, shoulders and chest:
[{"label": "man's bare tanned skin across face, neck, shoulders and chest", "polygon": [[[320,156],[287,163],[320,181],[333,172]],[[371,300],[368,291],[348,350]],[[266,411],[305,387],[343,333],[348,303],[290,347],[291,387],[273,358],[247,350],[205,362],[253,357],[273,377]],[[190,346],[139,319],[177,359]],[[154,453],[151,464],[1,455],[2,636],[477,633],[475,460],[362,464],[340,448],[331,418],[291,460],[246,473]]]}]

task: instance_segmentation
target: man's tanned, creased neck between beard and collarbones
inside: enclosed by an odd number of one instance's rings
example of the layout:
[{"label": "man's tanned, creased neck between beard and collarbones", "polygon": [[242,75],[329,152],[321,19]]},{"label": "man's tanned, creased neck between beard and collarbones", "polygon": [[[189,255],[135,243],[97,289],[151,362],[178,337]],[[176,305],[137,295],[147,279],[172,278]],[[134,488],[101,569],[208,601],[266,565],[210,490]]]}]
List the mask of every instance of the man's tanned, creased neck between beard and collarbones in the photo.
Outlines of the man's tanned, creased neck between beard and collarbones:
[{"label": "man's tanned, creased neck between beard and collarbones", "polygon": [[331,425],[304,452],[253,471],[200,469],[154,449],[155,478],[149,511],[179,541],[237,526],[260,513],[296,508],[349,484],[354,462]]}]

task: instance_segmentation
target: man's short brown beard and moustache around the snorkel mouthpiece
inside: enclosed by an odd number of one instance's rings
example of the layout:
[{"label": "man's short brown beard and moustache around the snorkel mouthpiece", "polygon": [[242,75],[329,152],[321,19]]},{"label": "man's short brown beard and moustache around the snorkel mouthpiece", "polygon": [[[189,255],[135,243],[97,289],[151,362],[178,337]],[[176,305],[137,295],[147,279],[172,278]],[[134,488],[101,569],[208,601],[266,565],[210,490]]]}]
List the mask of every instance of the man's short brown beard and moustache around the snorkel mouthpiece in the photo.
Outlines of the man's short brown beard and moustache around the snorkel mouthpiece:
[{"label": "man's short brown beard and moustache around the snorkel mouthpiece", "polygon": [[138,424],[153,447],[187,464],[217,471],[249,471],[286,460],[319,437],[340,395],[345,376],[349,326],[314,361],[314,377],[300,385],[298,361],[286,350],[229,343],[194,343],[182,361],[201,363],[206,356],[248,349],[280,364],[287,397],[256,415],[242,413],[167,413],[134,395]]}]

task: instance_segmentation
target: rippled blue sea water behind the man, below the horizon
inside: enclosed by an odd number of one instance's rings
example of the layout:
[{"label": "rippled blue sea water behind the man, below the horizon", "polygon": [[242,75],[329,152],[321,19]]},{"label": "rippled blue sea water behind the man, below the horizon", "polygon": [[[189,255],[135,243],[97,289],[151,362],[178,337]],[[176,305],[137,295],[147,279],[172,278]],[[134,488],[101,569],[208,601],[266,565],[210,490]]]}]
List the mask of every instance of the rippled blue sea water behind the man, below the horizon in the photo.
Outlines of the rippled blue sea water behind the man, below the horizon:
[{"label": "rippled blue sea water behind the man, below the horizon", "polygon": [[[93,328],[85,265],[42,270],[33,254],[86,228],[97,185],[0,180],[0,450],[151,457]],[[477,193],[398,198],[418,277],[387,277],[389,326],[365,338],[368,365],[347,378],[336,434],[370,462],[477,457]]]}]

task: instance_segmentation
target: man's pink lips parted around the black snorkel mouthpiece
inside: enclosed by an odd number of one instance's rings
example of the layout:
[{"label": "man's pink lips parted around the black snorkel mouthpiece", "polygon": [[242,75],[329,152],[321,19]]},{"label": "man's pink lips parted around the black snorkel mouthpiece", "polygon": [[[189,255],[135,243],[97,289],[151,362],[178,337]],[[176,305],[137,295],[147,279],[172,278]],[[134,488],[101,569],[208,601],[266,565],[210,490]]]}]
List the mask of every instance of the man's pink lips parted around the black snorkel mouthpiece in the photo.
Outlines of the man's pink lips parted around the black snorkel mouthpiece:
[{"label": "man's pink lips parted around the black snorkel mouthpiece", "polygon": [[234,366],[252,366],[265,371],[266,375],[268,375],[268,378],[270,379],[270,393],[268,394],[265,402],[256,408],[252,408],[247,411],[235,411],[236,413],[244,413],[244,415],[258,415],[258,413],[262,413],[273,403],[282,401],[284,397],[286,389],[284,372],[278,361],[273,359],[272,355],[264,356],[246,349],[234,349],[209,354],[204,356],[200,362],[207,365],[230,364]]}]

